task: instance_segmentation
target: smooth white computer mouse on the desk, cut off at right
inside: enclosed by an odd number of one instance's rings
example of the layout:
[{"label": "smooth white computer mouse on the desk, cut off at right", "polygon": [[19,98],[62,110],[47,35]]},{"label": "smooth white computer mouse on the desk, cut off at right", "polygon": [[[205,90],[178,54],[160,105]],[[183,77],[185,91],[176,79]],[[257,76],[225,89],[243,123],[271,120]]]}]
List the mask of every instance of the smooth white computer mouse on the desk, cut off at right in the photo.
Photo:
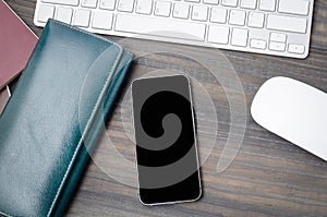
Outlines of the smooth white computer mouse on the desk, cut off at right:
[{"label": "smooth white computer mouse on the desk, cut off at right", "polygon": [[289,77],[272,77],[256,93],[255,122],[327,160],[327,94]]}]

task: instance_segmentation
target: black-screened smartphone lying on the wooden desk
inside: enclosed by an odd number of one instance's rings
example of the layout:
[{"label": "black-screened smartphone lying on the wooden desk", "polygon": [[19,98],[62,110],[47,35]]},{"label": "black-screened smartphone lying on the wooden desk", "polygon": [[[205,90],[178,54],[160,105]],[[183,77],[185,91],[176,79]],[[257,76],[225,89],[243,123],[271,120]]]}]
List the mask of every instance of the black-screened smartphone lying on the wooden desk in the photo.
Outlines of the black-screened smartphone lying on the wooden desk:
[{"label": "black-screened smartphone lying on the wooden desk", "polygon": [[201,197],[190,81],[184,75],[132,83],[138,197],[144,205]]}]

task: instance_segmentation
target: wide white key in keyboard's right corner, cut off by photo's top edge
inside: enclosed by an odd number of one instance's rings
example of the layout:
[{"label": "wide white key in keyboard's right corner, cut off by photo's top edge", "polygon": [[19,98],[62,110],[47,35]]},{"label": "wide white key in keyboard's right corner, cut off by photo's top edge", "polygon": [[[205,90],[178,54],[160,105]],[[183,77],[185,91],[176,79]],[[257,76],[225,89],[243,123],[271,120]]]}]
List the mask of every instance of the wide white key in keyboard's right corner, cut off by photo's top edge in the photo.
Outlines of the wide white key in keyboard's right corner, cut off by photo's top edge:
[{"label": "wide white key in keyboard's right corner, cut off by photo's top edge", "polygon": [[279,0],[279,12],[307,15],[308,13],[308,0]]}]

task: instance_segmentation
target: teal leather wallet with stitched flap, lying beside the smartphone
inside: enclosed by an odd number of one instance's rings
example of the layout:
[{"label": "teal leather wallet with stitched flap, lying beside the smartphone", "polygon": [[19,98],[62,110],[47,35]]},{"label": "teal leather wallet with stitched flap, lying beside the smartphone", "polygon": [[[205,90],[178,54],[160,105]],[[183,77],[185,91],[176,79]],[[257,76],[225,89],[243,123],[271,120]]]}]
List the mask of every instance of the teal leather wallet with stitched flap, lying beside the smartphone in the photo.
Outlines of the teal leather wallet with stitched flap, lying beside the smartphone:
[{"label": "teal leather wallet with stitched flap, lying beside the smartphone", "polygon": [[0,216],[60,216],[133,55],[49,20],[0,117]]}]

